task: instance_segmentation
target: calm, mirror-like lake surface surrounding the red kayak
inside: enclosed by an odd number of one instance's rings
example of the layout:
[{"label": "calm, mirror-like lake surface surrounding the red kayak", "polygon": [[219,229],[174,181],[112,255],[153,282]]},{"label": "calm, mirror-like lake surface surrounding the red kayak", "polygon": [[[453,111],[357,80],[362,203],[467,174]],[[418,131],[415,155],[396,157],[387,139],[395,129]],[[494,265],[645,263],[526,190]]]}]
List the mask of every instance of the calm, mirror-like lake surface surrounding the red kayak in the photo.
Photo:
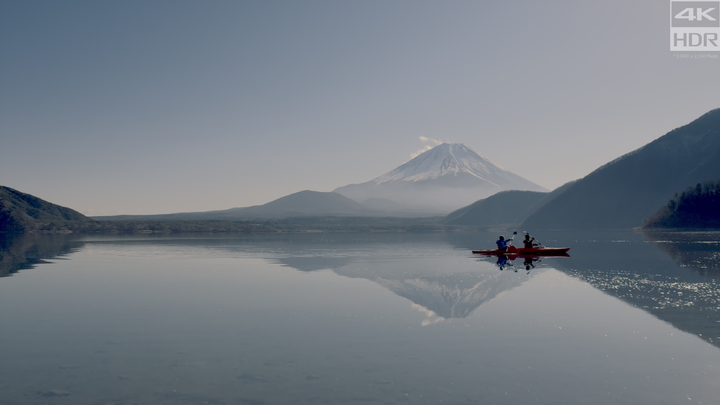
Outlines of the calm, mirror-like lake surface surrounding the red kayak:
[{"label": "calm, mirror-like lake surface surrounding the red kayak", "polygon": [[720,233],[537,237],[0,236],[0,403],[720,404]]}]

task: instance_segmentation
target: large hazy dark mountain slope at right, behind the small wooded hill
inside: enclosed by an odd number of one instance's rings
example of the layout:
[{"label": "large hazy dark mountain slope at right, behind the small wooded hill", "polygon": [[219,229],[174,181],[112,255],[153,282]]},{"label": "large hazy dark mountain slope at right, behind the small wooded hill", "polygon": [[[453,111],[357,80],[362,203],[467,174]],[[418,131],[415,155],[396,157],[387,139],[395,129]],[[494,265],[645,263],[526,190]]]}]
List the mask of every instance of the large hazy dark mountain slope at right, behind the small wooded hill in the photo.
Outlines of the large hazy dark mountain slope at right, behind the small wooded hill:
[{"label": "large hazy dark mountain slope at right, behind the small wooded hill", "polygon": [[603,165],[531,214],[522,226],[638,227],[676,191],[717,178],[720,178],[720,109]]}]

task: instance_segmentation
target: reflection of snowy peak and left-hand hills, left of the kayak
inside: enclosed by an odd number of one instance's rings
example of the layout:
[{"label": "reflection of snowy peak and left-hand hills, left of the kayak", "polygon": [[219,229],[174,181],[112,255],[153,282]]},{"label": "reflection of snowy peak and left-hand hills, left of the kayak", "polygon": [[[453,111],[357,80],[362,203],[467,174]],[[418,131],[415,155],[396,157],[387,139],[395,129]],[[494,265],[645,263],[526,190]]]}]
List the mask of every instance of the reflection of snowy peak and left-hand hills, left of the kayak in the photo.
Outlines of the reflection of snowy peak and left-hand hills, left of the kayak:
[{"label": "reflection of snowy peak and left-hand hills, left of the kayak", "polygon": [[[198,245],[212,251],[253,252],[271,254],[266,260],[302,272],[332,270],[349,278],[363,278],[373,281],[393,293],[408,299],[418,309],[430,317],[443,319],[465,318],[484,303],[501,293],[520,286],[532,275],[524,273],[506,274],[492,271],[491,267],[479,268],[470,262],[459,263],[457,268],[435,268],[432,258],[420,258],[417,261],[403,260],[391,263],[369,263],[372,256],[366,249],[377,249],[378,238],[360,237],[359,239],[341,237],[330,241],[320,238],[329,248],[318,249],[318,238],[220,238],[220,239],[139,239],[128,238],[123,241],[106,241],[102,238],[78,240],[70,237],[21,236],[5,239],[2,258],[6,273],[21,268],[32,268],[42,260],[57,258],[80,249],[86,243],[144,244],[195,248]],[[379,237],[383,240],[383,237]],[[388,245],[396,238],[386,239],[380,245]],[[442,239],[436,241],[442,243]],[[432,245],[429,243],[428,245]],[[389,245],[388,250],[407,249],[403,244]],[[428,246],[428,249],[430,247]],[[299,256],[315,251],[313,256]],[[338,253],[341,252],[341,253]],[[339,254],[343,254],[341,256]],[[348,255],[349,254],[349,255]],[[462,266],[465,266],[464,268]],[[14,270],[10,270],[14,269]]]}]

